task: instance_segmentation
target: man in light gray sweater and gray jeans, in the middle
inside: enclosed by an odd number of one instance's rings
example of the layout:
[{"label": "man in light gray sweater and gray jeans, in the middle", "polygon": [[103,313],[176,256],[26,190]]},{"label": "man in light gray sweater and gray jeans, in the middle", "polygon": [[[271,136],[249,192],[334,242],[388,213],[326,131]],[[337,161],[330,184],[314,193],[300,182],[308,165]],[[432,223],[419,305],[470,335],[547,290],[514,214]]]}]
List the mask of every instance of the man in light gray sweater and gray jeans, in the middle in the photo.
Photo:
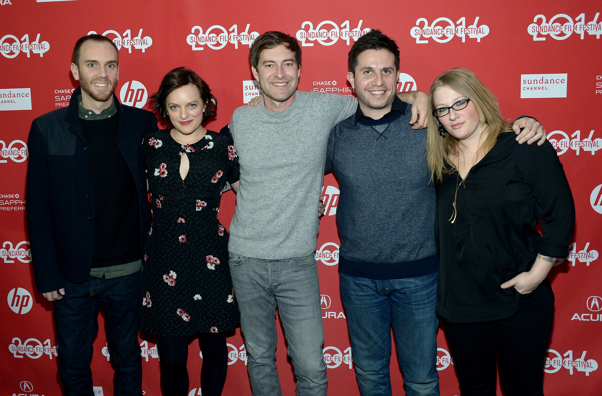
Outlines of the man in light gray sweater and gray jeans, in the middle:
[{"label": "man in light gray sweater and gray jeans, in the middle", "polygon": [[[338,94],[296,91],[301,48],[290,35],[260,35],[250,59],[264,99],[258,106],[236,109],[230,123],[240,158],[240,187],[228,249],[251,388],[255,396],[282,395],[275,364],[278,306],[297,395],[326,395],[314,256],[316,203],[330,130],[354,114],[358,102]],[[420,120],[426,120],[426,94],[400,96],[420,102]],[[424,121],[415,128],[423,126]]]}]

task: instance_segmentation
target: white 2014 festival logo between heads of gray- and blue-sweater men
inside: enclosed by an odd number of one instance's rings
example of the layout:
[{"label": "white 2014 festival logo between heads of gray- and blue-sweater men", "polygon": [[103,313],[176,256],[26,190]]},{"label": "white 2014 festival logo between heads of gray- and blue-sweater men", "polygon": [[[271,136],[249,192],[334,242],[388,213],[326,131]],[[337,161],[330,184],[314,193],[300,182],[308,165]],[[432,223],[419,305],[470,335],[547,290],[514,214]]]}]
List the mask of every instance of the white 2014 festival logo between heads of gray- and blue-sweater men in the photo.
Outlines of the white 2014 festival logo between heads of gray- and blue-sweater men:
[{"label": "white 2014 festival logo between heads of gray- and blue-sweater men", "polygon": [[[314,24],[309,22],[309,20],[306,20],[301,24],[301,29],[297,30],[297,40],[301,41],[301,45],[303,47],[314,46],[314,43],[306,43],[306,40],[317,40],[318,43],[322,44],[323,46],[331,46],[332,44],[336,43],[339,38],[347,41],[347,45],[349,45],[349,40],[351,38],[353,38],[353,41],[358,41],[358,38],[362,37],[362,35],[371,30],[370,28],[362,29],[362,22],[364,22],[364,20],[360,19],[358,22],[358,27],[355,29],[350,29],[349,20],[346,20],[345,22],[341,23],[341,28],[343,29],[339,29],[337,23],[332,22],[332,20],[323,20],[322,22],[318,23],[318,26],[315,26],[314,29]],[[306,27],[308,30],[305,30]]]}]

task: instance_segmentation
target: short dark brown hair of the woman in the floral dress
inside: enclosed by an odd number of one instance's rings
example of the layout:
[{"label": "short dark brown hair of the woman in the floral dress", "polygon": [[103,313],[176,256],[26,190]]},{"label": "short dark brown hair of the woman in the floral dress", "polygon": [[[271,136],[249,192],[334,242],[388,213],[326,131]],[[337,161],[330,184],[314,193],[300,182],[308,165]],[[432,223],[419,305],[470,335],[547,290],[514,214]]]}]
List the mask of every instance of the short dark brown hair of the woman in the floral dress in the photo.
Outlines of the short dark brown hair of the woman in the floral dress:
[{"label": "short dark brown hair of the woman in the floral dress", "polygon": [[159,90],[152,94],[150,99],[153,111],[157,111],[161,115],[161,118],[169,124],[169,114],[167,113],[166,106],[167,97],[179,87],[190,84],[198,88],[200,99],[205,102],[206,107],[205,112],[203,112],[203,121],[201,122],[204,123],[209,118],[214,117],[217,114],[216,97],[211,94],[209,85],[199,75],[185,67],[176,67],[176,69],[170,70],[164,76]]}]

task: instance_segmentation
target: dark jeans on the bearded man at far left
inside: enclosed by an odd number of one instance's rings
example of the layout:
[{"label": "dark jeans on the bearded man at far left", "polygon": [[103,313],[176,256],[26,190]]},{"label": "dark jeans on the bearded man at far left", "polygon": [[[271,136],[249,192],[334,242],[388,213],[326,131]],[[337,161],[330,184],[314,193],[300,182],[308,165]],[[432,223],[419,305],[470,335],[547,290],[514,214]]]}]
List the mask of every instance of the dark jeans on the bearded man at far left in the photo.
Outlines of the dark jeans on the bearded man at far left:
[{"label": "dark jeans on the bearded man at far left", "polygon": [[66,396],[93,396],[92,341],[98,333],[98,311],[105,313],[107,344],[114,363],[115,395],[142,395],[140,273],[105,279],[89,276],[82,284],[65,279],[65,295],[54,302],[58,374]]}]

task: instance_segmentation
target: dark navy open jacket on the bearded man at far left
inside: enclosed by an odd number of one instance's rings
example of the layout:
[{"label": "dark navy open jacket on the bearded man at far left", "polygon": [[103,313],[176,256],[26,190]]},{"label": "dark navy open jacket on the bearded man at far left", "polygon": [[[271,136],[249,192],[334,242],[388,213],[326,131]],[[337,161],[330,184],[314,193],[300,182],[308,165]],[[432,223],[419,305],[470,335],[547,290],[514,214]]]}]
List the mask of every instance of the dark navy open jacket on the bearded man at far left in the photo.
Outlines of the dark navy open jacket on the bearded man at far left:
[{"label": "dark navy open jacket on the bearded man at far left", "polygon": [[[77,88],[68,108],[36,118],[29,130],[26,213],[34,276],[40,293],[83,282],[90,274],[94,243],[92,175],[78,114]],[[134,177],[140,201],[140,251],[151,226],[146,172],[140,156],[145,132],[158,130],[152,112],[125,106],[113,94],[119,127],[117,147]]]}]

